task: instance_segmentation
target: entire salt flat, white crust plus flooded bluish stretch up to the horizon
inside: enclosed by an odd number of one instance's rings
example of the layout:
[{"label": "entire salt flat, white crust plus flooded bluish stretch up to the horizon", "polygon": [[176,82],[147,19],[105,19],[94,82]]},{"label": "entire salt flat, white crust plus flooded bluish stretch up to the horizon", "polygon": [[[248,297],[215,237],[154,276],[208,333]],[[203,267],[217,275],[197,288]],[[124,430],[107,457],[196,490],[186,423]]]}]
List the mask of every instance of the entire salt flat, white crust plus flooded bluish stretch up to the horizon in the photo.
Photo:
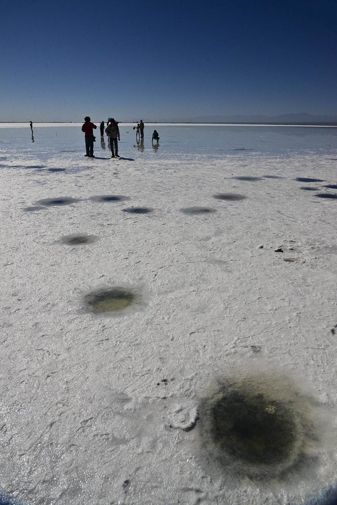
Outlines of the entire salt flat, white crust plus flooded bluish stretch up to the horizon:
[{"label": "entire salt flat, white crust plus flooded bluish stretch up to the horizon", "polygon": [[[85,159],[80,128],[30,135],[1,129],[4,495],[327,503],[336,129],[146,125],[142,145],[122,125],[120,160],[99,134]],[[94,240],[62,239],[77,235]],[[85,296],[114,286],[139,303],[90,312]],[[280,423],[267,456],[259,402]]]}]

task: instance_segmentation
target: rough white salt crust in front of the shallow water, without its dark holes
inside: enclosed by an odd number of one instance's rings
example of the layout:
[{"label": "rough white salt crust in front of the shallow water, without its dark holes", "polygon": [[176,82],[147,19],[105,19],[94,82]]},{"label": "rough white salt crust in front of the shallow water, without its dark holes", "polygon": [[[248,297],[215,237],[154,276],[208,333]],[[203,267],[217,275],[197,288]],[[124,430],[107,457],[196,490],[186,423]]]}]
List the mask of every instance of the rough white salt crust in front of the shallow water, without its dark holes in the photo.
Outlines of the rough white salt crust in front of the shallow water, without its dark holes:
[{"label": "rough white salt crust in front of the shallow water, without its dark holes", "polygon": [[[6,156],[25,163],[24,154]],[[252,366],[306,382],[333,439],[337,202],[294,181],[325,179],[310,185],[336,193],[322,188],[336,183],[333,162],[255,154],[243,168],[231,155],[83,162],[67,153],[30,156],[29,165],[71,170],[2,170],[3,489],[34,505],[297,505],[334,484],[334,443],[300,486],[259,486],[245,475],[228,486],[199,450],[199,421],[181,429],[197,418],[214,374]],[[248,198],[213,198],[229,192]],[[100,194],[131,200],[88,199]],[[60,196],[81,201],[23,210]],[[131,205],[154,212],[121,212]],[[179,211],[194,206],[216,212]],[[99,240],[57,242],[77,233]],[[119,317],[86,313],[83,294],[110,285],[135,286],[143,306]]]}]

